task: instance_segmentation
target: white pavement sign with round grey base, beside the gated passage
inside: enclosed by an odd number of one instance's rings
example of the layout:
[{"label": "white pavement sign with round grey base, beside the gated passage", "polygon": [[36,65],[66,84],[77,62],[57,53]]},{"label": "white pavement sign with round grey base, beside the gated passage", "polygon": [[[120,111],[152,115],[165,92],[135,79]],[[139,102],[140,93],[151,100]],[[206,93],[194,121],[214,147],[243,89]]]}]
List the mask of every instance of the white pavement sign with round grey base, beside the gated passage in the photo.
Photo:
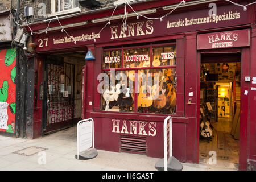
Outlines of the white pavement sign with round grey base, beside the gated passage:
[{"label": "white pavement sign with round grey base, beside the gated passage", "polygon": [[93,119],[84,119],[77,123],[77,155],[76,159],[87,160],[98,155],[94,148],[94,122]]}]

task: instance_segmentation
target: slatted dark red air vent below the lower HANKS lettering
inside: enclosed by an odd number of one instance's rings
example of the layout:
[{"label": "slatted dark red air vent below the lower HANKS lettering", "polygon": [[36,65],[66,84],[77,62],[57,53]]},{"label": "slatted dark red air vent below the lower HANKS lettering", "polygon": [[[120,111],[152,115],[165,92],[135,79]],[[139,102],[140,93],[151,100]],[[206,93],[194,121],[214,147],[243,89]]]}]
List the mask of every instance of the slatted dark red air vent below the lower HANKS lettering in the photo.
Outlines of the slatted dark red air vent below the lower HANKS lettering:
[{"label": "slatted dark red air vent below the lower HANKS lettering", "polygon": [[146,138],[122,136],[120,140],[121,152],[129,152],[135,154],[147,154]]}]

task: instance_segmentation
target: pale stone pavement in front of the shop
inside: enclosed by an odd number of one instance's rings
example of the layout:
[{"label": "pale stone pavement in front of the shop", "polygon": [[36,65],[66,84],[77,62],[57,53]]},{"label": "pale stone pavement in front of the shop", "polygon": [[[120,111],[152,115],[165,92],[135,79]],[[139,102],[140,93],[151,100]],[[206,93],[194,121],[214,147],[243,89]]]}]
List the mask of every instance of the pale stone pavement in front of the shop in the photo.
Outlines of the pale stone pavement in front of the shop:
[{"label": "pale stone pavement in front of the shop", "polygon": [[[28,147],[42,147],[43,151],[30,156],[14,152]],[[98,156],[77,160],[76,126],[39,137],[23,139],[0,136],[0,171],[156,171],[159,158],[146,155],[97,150]],[[236,171],[233,163],[182,163],[184,171]]]}]

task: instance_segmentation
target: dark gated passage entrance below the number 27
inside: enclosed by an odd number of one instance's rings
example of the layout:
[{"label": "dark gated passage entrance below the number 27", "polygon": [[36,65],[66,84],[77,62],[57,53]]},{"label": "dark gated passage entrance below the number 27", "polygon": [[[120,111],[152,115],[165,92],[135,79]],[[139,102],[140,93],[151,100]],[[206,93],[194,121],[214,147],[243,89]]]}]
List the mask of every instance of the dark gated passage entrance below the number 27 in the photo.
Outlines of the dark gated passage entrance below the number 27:
[{"label": "dark gated passage entrance below the number 27", "polygon": [[44,65],[44,134],[71,127],[81,119],[84,53],[55,54]]}]

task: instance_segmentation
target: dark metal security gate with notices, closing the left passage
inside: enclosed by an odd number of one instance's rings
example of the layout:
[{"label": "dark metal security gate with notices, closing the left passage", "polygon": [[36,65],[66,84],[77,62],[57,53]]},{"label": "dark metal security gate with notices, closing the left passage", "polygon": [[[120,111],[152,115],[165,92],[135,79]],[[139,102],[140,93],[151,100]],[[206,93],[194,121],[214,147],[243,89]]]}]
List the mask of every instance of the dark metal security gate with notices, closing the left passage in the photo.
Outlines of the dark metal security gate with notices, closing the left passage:
[{"label": "dark metal security gate with notices, closing the left passage", "polygon": [[46,63],[44,134],[73,126],[75,65]]}]

